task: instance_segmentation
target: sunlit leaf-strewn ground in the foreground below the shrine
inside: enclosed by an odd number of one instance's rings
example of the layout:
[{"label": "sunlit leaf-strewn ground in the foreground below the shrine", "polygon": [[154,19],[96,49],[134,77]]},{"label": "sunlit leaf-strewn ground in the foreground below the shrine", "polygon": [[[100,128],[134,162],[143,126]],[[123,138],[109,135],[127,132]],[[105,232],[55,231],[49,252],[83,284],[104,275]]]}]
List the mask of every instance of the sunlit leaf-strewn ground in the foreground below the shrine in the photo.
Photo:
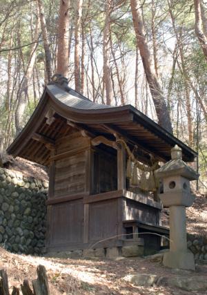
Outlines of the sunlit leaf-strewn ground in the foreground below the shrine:
[{"label": "sunlit leaf-strewn ground in the foreground below the shrine", "polygon": [[[122,278],[127,274],[157,274],[159,276],[204,276],[207,279],[207,265],[197,267],[196,272],[172,270],[152,263],[145,258],[124,258],[122,260],[86,260],[69,258],[46,258],[10,254],[0,249],[0,269],[6,269],[10,290],[12,285],[20,287],[23,279],[30,283],[37,277],[37,265],[47,270],[52,295],[59,294],[189,294],[176,287],[136,287]],[[190,294],[207,294],[190,292]]]}]

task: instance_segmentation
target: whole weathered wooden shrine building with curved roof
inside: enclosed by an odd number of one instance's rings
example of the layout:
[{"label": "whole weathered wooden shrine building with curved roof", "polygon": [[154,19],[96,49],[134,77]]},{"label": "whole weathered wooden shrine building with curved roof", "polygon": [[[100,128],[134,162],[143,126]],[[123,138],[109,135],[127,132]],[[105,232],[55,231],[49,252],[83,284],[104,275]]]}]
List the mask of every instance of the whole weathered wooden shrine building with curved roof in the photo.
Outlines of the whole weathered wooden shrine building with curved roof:
[{"label": "whole weathered wooden shrine building with curved roof", "polygon": [[55,75],[8,153],[49,167],[48,251],[136,240],[156,248],[158,236],[135,233],[167,234],[153,170],[175,144],[194,160],[195,151],[133,106],[96,104]]}]

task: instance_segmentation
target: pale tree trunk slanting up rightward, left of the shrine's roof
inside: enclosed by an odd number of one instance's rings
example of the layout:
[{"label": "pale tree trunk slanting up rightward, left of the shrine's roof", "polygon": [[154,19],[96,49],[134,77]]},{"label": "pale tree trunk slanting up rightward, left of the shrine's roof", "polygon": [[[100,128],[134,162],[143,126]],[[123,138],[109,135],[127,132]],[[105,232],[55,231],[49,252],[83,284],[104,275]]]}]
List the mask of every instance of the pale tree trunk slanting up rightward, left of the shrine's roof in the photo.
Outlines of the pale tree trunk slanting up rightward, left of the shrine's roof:
[{"label": "pale tree trunk slanting up rightward, left of the shrine's roof", "polygon": [[26,102],[28,97],[28,85],[30,83],[30,79],[32,77],[34,63],[36,59],[36,50],[38,43],[36,42],[39,37],[39,17],[37,18],[36,28],[34,32],[34,44],[30,50],[30,59],[28,61],[28,67],[26,68],[26,72],[21,80],[19,93],[17,94],[17,109],[15,112],[15,127],[17,134],[21,131],[23,127],[23,113],[26,109]]}]

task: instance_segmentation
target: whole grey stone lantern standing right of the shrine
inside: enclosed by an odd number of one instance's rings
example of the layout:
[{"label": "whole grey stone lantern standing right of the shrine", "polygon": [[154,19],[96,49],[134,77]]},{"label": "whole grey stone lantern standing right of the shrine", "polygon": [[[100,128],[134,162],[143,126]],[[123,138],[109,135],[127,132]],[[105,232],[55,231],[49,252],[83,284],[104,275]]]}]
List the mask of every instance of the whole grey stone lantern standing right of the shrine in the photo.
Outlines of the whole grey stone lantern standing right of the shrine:
[{"label": "whole grey stone lantern standing right of the shrine", "polygon": [[199,175],[182,160],[179,146],[171,150],[171,158],[155,171],[164,184],[164,193],[159,198],[164,207],[170,208],[170,251],[164,253],[163,263],[172,268],[195,269],[193,253],[187,248],[186,207],[194,201],[190,180],[197,180]]}]

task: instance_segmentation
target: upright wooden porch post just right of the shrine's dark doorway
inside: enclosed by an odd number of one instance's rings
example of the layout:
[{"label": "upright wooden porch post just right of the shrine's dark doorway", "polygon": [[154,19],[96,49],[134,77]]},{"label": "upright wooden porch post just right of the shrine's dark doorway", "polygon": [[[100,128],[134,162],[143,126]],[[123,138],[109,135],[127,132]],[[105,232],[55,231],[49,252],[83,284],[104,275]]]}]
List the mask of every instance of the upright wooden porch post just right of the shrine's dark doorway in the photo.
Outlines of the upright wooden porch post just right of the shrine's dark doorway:
[{"label": "upright wooden porch post just right of the shrine's dark doorway", "polygon": [[117,189],[126,189],[126,152],[122,144],[117,149]]}]

